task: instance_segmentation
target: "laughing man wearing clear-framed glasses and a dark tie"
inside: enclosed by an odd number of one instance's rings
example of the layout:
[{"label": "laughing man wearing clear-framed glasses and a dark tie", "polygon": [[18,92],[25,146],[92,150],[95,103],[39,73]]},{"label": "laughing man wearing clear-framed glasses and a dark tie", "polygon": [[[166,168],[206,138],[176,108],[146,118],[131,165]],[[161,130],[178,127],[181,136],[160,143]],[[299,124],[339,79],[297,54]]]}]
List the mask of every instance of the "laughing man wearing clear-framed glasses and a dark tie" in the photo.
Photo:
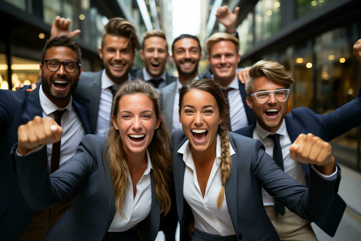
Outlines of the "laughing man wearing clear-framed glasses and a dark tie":
[{"label": "laughing man wearing clear-framed glasses and a dark tie", "polygon": [[[361,60],[360,49],[360,45],[354,47],[355,55],[359,60]],[[299,146],[299,153],[302,149],[311,150],[312,153],[312,156],[310,154],[302,158],[314,160],[313,165],[302,164],[292,159],[291,144],[299,136],[305,139],[321,138],[328,142],[360,125],[361,89],[354,100],[332,113],[319,115],[309,108],[301,107],[287,114],[289,88],[294,80],[284,66],[277,62],[261,60],[251,67],[249,76],[245,86],[247,105],[253,109],[257,122],[236,130],[235,133],[259,139],[264,144],[265,151],[284,172],[300,184],[307,186],[309,169],[319,171],[320,167],[317,163],[324,158],[324,155],[322,151],[313,153],[313,146]],[[335,169],[337,171],[337,168]],[[325,176],[319,172],[318,174],[325,179],[332,178],[334,175]],[[293,214],[264,189],[262,189],[262,198],[265,210],[280,240],[317,240],[308,220]],[[327,215],[316,224],[333,237],[345,207],[345,202],[338,194],[335,194]]]}]

